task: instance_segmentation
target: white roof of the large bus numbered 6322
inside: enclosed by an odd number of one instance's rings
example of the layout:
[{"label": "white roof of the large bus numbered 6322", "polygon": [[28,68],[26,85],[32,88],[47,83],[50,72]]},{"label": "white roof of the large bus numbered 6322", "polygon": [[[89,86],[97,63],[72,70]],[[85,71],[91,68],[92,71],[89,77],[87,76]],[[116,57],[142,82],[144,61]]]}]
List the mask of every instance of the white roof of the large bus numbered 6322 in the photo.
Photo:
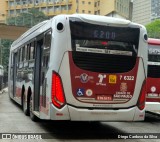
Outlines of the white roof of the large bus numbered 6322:
[{"label": "white roof of the large bus numbered 6322", "polygon": [[[41,29],[44,25],[46,25],[47,23],[51,22],[54,18],[58,18],[61,16],[65,16],[68,18],[79,18],[84,22],[88,22],[88,23],[93,23],[93,24],[100,24],[100,25],[111,25],[111,26],[127,26],[129,24],[131,24],[132,22],[129,20],[125,20],[125,19],[120,19],[120,18],[114,18],[114,17],[107,17],[107,16],[100,16],[100,15],[92,15],[92,14],[72,14],[72,15],[67,15],[67,14],[61,14],[61,15],[57,15],[53,18],[51,18],[50,20],[46,20],[43,21],[37,25],[35,25],[34,27],[32,27],[31,29],[29,29],[28,31],[26,31],[23,35],[21,35],[17,40],[15,40],[13,42],[13,44],[11,45],[11,50],[16,49],[18,44],[23,44],[24,40],[26,38],[32,38],[31,35],[38,31],[39,29]],[[138,24],[136,24],[138,25]],[[37,32],[38,34],[38,32]]]}]

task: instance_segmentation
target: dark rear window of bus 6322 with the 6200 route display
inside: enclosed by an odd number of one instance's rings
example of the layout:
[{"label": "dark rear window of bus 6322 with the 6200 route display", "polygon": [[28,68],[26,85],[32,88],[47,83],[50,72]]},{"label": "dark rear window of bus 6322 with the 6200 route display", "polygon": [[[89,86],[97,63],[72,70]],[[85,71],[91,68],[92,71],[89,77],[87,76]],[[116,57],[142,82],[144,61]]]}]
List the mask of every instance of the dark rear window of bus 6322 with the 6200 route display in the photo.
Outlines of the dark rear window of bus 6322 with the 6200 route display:
[{"label": "dark rear window of bus 6322 with the 6200 route display", "polygon": [[111,27],[70,19],[73,51],[136,56],[139,28]]}]

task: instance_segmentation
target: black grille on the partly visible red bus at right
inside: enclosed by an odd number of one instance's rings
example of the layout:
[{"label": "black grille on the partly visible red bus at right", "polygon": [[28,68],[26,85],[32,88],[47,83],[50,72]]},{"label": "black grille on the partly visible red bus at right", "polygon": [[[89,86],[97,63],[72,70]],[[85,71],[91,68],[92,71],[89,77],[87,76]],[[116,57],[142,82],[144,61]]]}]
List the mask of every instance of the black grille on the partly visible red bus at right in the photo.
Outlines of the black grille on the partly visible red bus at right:
[{"label": "black grille on the partly visible red bus at right", "polygon": [[148,65],[148,77],[160,78],[160,66]]}]

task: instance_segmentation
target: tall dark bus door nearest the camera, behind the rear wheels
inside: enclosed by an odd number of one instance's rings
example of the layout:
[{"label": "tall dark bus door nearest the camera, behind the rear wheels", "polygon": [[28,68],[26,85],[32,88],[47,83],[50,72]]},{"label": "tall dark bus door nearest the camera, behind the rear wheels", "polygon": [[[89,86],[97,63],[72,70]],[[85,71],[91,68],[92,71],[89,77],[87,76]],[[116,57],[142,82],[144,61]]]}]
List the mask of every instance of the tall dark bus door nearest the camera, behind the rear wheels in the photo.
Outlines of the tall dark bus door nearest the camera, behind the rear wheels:
[{"label": "tall dark bus door nearest the camera, behind the rear wheels", "polygon": [[40,103],[42,46],[43,46],[43,39],[37,40],[35,49],[35,68],[34,68],[34,96],[33,96],[34,111],[39,111],[39,103]]}]

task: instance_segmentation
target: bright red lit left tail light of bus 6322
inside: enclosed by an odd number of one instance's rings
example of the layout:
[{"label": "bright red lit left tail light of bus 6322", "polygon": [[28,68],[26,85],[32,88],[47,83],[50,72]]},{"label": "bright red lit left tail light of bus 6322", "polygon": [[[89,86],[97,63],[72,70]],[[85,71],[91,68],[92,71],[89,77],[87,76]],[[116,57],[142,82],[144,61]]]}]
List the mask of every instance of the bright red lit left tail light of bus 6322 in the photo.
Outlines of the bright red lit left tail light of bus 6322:
[{"label": "bright red lit left tail light of bus 6322", "polygon": [[66,103],[62,81],[56,72],[52,73],[52,103],[57,108],[62,108]]}]

